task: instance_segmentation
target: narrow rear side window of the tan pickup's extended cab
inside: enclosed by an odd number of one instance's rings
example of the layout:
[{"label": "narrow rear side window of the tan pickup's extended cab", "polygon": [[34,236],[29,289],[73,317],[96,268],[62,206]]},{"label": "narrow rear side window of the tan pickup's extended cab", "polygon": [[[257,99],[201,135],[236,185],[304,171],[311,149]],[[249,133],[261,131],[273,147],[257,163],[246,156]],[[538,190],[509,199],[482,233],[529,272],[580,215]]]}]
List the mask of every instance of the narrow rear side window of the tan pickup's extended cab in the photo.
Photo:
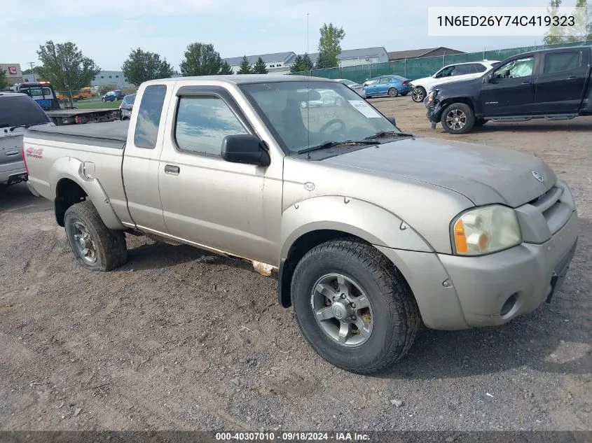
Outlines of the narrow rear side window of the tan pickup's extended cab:
[{"label": "narrow rear side window of the tan pickup's extended cab", "polygon": [[160,115],[163,114],[166,94],[165,85],[150,85],[144,90],[134,134],[134,143],[138,148],[153,149],[156,146]]}]

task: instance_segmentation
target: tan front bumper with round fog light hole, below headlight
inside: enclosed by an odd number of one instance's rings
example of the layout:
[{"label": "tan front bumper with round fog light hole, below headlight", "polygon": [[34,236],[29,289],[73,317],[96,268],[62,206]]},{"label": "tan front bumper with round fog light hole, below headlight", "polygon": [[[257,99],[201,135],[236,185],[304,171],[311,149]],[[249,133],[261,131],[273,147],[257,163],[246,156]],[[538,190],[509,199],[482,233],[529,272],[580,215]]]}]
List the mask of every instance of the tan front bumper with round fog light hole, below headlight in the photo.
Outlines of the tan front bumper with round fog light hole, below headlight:
[{"label": "tan front bumper with round fog light hole, below headlight", "polygon": [[405,276],[425,325],[460,330],[502,325],[550,300],[574,256],[577,230],[574,211],[543,244],[523,243],[481,257],[378,249]]}]

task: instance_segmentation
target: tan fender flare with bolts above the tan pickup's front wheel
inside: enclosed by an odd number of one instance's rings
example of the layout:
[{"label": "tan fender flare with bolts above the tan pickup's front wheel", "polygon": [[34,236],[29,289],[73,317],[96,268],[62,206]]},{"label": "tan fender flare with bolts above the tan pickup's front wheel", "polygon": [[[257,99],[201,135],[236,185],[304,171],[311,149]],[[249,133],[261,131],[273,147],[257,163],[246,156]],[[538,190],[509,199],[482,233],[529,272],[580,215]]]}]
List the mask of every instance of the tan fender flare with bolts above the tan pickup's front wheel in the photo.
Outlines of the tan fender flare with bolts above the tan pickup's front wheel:
[{"label": "tan fender flare with bolts above the tan pickup's front wheel", "polygon": [[337,230],[370,244],[409,251],[433,252],[413,227],[381,206],[344,196],[312,197],[292,204],[282,214],[280,260],[308,232]]}]

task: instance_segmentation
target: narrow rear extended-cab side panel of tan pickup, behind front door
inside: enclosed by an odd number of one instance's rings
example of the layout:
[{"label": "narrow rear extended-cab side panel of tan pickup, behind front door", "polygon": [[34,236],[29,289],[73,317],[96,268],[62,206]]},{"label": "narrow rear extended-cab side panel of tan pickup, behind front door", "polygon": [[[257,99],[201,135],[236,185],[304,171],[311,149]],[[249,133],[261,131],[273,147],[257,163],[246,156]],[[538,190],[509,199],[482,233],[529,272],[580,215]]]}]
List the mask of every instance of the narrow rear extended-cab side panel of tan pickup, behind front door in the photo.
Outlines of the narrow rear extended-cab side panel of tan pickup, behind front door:
[{"label": "narrow rear extended-cab side panel of tan pickup, behind front door", "polygon": [[[132,114],[128,143],[123,153],[123,185],[130,216],[138,227],[166,232],[158,193],[158,158],[163,148],[164,122],[173,87],[148,85],[139,109]],[[163,115],[164,114],[164,115]]]}]

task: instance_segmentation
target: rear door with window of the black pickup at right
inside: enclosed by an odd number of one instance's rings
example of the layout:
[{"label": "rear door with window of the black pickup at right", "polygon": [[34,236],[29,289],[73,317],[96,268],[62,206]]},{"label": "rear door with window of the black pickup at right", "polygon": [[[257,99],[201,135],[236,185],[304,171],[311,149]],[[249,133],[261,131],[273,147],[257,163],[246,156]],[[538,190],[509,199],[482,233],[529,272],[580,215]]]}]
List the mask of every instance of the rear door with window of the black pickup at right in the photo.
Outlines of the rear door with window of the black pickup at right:
[{"label": "rear door with window of the black pickup at right", "polygon": [[588,78],[588,54],[587,48],[565,48],[542,56],[537,113],[578,113]]}]

